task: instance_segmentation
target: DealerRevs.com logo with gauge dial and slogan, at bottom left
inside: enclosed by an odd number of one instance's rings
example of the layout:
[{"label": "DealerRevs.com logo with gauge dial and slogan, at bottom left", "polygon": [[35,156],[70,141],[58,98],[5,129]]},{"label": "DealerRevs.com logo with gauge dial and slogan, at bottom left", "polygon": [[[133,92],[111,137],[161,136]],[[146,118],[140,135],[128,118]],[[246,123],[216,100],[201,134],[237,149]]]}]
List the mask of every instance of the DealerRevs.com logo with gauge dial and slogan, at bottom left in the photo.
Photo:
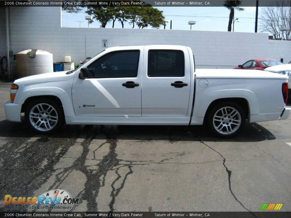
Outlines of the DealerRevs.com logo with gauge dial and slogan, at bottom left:
[{"label": "DealerRevs.com logo with gauge dial and slogan, at bottom left", "polygon": [[[62,189],[49,190],[38,197],[12,197],[4,196],[4,204],[11,205],[12,209],[71,209],[72,205],[78,204],[79,198]],[[56,205],[56,206],[53,206]]]}]

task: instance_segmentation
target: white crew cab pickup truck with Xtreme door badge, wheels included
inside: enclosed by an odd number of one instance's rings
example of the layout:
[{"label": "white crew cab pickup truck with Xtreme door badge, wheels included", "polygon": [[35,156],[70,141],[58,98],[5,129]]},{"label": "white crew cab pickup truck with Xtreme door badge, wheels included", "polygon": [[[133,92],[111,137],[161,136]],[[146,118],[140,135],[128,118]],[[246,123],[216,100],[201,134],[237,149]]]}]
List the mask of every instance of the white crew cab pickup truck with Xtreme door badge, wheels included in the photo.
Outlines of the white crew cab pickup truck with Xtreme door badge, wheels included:
[{"label": "white crew cab pickup truck with Xtreme door badge, wheels included", "polygon": [[232,137],[246,122],[286,119],[287,76],[266,71],[195,69],[191,48],[107,48],[76,70],[15,80],[5,104],[33,130],[62,124],[202,125]]}]

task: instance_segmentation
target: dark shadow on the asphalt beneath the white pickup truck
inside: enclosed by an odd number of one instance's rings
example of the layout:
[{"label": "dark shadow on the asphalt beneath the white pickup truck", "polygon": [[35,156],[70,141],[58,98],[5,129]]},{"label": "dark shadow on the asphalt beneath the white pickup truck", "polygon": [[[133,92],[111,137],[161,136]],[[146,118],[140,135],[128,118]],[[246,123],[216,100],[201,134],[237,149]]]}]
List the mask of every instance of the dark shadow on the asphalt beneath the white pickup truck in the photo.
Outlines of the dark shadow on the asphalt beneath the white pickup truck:
[{"label": "dark shadow on the asphalt beneath the white pickup truck", "polygon": [[[72,134],[74,133],[74,134]],[[30,130],[25,123],[15,123],[7,120],[0,122],[0,137],[49,137],[49,138],[85,138],[125,140],[167,140],[175,141],[226,141],[226,142],[257,142],[274,140],[274,136],[263,126],[252,123],[246,124],[244,130],[236,137],[222,139],[214,137],[204,126],[112,126],[112,125],[64,125],[55,134],[37,134]]]}]

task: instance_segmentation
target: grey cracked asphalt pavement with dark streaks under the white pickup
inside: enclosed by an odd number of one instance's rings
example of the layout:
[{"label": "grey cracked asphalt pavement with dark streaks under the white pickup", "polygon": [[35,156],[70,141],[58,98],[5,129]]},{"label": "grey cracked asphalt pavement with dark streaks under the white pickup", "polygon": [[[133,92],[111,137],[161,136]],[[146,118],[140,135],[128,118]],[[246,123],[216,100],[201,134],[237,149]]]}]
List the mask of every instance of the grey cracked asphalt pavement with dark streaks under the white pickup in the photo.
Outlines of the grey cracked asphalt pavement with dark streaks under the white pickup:
[{"label": "grey cracked asphalt pavement with dark streaks under the white pickup", "polygon": [[202,126],[65,125],[41,135],[6,120],[10,86],[0,84],[0,211],[25,211],[5,195],[53,189],[80,199],[68,211],[259,211],[263,203],[291,211],[291,117],[247,124],[227,140]]}]

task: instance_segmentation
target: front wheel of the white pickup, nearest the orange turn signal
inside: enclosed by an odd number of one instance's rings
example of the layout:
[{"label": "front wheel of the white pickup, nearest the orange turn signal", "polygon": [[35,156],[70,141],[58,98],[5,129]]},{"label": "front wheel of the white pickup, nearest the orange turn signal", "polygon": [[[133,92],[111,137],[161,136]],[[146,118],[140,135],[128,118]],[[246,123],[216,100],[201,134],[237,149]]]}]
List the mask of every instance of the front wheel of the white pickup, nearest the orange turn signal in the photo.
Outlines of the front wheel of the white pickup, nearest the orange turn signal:
[{"label": "front wheel of the white pickup, nearest the orange turn signal", "polygon": [[62,127],[64,113],[61,105],[54,101],[45,98],[37,99],[27,105],[25,122],[35,132],[50,134]]}]

